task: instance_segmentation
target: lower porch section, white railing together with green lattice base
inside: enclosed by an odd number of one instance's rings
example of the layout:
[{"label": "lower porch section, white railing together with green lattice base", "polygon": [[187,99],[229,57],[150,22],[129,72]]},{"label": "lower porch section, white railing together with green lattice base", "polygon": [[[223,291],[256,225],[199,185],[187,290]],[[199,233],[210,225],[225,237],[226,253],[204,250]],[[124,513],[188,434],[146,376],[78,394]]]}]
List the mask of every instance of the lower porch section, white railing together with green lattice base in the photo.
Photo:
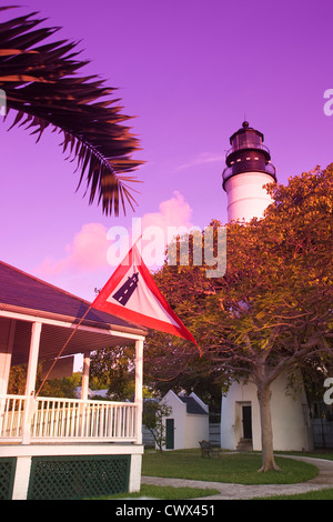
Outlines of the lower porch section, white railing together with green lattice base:
[{"label": "lower porch section, white railing together with green lattice base", "polygon": [[141,408],[0,398],[0,499],[79,500],[141,486]]}]

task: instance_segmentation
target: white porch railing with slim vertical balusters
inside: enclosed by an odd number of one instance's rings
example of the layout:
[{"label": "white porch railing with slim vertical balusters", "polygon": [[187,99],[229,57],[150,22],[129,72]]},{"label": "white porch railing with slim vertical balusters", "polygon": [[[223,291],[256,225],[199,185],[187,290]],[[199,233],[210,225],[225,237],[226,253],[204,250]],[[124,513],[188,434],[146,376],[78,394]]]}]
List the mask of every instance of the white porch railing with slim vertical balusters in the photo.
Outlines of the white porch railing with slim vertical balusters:
[{"label": "white porch railing with slim vertical balusters", "polygon": [[137,442],[131,402],[0,396],[0,443]]}]

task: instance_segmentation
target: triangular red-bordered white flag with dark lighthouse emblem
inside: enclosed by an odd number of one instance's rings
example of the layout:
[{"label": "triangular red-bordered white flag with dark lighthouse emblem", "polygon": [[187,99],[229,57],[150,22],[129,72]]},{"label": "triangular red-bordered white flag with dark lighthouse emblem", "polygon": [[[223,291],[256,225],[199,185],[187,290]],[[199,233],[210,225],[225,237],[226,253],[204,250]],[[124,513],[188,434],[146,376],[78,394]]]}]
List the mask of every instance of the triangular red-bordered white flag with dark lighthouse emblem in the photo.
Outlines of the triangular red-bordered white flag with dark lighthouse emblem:
[{"label": "triangular red-bordered white flag with dark lighthouse emblem", "polygon": [[145,267],[137,244],[115,269],[92,308],[161,332],[195,339],[173,312]]}]

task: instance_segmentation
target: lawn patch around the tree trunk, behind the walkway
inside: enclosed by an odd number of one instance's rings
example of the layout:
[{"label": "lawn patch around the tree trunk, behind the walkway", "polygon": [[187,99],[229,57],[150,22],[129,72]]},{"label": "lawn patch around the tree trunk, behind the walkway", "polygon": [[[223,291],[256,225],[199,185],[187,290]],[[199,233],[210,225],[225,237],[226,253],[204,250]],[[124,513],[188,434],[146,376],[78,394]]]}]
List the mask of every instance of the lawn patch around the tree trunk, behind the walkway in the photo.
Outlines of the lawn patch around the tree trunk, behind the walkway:
[{"label": "lawn patch around the tree trunk, behind the walkway", "polygon": [[258,473],[261,455],[254,453],[224,453],[221,459],[203,459],[200,450],[147,452],[142,474],[235,484],[295,484],[314,479],[319,472],[305,462],[282,456],[275,460],[282,471]]}]

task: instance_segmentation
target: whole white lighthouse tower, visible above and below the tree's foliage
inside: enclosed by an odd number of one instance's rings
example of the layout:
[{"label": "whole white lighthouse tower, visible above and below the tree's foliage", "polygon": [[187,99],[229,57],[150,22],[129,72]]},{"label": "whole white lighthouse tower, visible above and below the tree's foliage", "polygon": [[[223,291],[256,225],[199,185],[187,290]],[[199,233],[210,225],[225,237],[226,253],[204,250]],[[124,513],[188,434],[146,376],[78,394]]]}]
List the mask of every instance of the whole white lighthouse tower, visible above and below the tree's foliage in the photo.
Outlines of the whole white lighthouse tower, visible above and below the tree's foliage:
[{"label": "whole white lighthouse tower, visible above and below the tree's foliage", "polygon": [[[228,221],[251,221],[261,218],[271,203],[263,185],[276,181],[275,167],[263,134],[249,127],[230,138],[223,171],[223,189],[228,194]],[[307,401],[304,390],[296,399],[286,393],[286,375],[281,374],[271,385],[274,450],[310,451],[313,449]],[[261,451],[260,410],[256,387],[252,382],[234,381],[221,405],[221,448]]]}]

